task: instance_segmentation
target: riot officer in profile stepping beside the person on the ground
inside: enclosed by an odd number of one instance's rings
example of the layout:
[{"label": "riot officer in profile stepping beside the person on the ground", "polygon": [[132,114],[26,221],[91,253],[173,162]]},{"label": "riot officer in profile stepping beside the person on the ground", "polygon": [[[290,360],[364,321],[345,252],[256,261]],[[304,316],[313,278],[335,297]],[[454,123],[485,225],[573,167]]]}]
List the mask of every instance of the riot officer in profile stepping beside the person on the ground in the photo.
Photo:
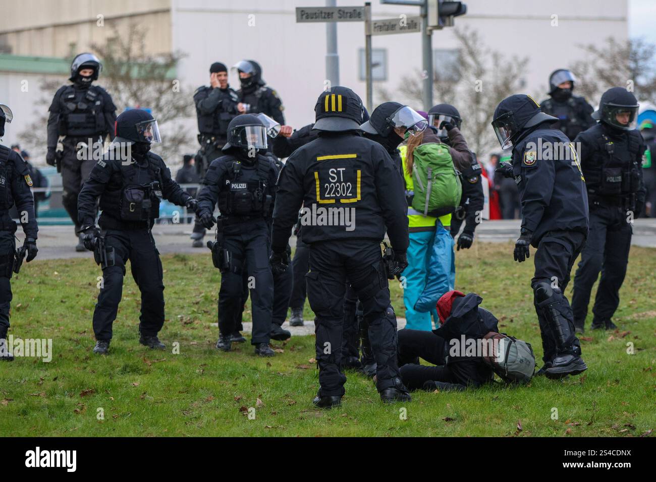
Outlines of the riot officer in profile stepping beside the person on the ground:
[{"label": "riot officer in profile stepping beside the person on the ground", "polygon": [[501,101],[492,121],[501,148],[512,148],[512,164],[501,163],[496,171],[514,177],[522,200],[514,258],[523,262],[529,246],[537,248],[531,287],[544,350],[538,374],[548,378],[587,369],[564,292],[588,234],[588,196],[576,151],[550,127],[556,120],[533,98],[517,94]]}]

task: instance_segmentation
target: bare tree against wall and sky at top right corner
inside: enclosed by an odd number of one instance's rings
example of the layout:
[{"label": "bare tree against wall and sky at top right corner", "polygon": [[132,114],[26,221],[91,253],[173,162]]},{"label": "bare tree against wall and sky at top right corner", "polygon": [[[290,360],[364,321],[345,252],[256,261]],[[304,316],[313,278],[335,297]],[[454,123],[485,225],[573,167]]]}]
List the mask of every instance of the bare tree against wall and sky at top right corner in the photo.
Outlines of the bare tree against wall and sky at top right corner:
[{"label": "bare tree against wall and sky at top right corner", "polygon": [[604,45],[579,45],[586,59],[576,62],[572,71],[579,77],[580,94],[588,102],[598,102],[605,90],[625,87],[638,100],[656,103],[656,45],[644,39],[617,41],[605,39]]}]

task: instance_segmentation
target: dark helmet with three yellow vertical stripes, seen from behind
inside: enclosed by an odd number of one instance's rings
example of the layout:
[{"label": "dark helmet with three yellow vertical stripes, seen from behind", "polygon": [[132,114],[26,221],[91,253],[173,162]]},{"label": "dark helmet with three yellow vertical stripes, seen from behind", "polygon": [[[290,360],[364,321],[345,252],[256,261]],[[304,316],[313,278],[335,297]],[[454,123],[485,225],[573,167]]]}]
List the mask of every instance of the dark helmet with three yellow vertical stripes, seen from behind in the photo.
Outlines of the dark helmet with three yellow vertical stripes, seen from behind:
[{"label": "dark helmet with three yellow vertical stripes, seen from behind", "polygon": [[321,92],[314,106],[317,131],[354,131],[364,121],[364,107],[358,94],[347,87]]}]

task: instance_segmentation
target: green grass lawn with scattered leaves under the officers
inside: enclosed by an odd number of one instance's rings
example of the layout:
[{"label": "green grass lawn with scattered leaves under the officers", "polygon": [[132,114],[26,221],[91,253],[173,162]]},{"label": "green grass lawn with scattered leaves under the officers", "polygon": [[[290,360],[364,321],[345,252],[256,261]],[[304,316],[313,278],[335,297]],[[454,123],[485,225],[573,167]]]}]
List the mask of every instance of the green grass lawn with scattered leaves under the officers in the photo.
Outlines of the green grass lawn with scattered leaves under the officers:
[{"label": "green grass lawn with scattered leaves under the officers", "polygon": [[[619,330],[585,333],[583,375],[536,378],[520,388],[415,392],[411,403],[384,405],[370,380],[350,372],[342,407],[333,411],[311,403],[318,389],[314,336],[274,342],[279,353],[271,359],[256,357],[249,344],[219,353],[210,324],[220,273],[209,252],[163,256],[163,265],[167,321],[160,338],[167,351],[138,344],[140,298],[128,275],[110,355],[99,357],[91,352],[100,275],[94,262],[24,264],[12,279],[10,334],[52,338],[54,354],[51,363],[17,357],[0,364],[1,436],[629,436],[656,425],[656,249],[632,247],[614,319]],[[477,242],[457,253],[458,289],[483,296],[500,329],[531,342],[541,357],[532,275],[533,256],[515,263],[510,243]],[[392,304],[402,317],[397,285]],[[307,304],[305,317],[312,319]]]}]

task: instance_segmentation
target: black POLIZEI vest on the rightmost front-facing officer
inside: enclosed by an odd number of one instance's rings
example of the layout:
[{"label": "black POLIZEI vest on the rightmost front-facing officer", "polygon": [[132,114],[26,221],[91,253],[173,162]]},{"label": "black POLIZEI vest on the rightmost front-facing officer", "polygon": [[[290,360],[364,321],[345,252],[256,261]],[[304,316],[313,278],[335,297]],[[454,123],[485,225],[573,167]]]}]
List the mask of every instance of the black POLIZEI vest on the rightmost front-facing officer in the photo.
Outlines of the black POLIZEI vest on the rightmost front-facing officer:
[{"label": "black POLIZEI vest on the rightmost front-facing officer", "polygon": [[590,197],[623,201],[640,189],[638,150],[640,143],[630,132],[620,138],[602,134],[596,140],[591,162],[585,163],[583,175]]}]

